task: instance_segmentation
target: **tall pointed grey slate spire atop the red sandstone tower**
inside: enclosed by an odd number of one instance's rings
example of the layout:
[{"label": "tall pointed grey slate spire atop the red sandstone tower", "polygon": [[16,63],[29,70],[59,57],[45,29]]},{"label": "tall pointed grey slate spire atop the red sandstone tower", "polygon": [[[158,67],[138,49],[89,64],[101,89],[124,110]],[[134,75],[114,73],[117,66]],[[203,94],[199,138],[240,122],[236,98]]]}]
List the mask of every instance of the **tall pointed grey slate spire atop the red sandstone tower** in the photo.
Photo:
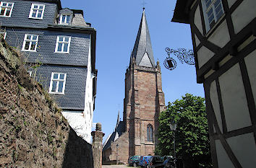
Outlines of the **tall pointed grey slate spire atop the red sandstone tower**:
[{"label": "tall pointed grey slate spire atop the red sandstone tower", "polygon": [[155,68],[155,60],[150,41],[148,23],[143,8],[140,27],[135,41],[135,47],[132,50],[132,56],[135,57],[137,66],[147,66]]}]

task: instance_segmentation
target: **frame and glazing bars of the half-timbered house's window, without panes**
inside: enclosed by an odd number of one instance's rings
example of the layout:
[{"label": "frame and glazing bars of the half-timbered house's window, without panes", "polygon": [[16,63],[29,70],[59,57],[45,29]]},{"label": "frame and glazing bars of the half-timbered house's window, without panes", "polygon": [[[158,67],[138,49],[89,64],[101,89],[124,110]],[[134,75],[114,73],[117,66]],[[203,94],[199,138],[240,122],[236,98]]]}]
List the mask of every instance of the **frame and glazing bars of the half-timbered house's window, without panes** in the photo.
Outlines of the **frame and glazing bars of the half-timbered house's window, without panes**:
[{"label": "frame and glazing bars of the half-timbered house's window, without panes", "polygon": [[[216,25],[218,20],[221,19],[221,17],[217,18],[217,16],[216,16],[217,15],[216,14],[216,8],[214,6],[215,2],[218,1],[218,0],[210,0],[210,1],[211,1],[210,5],[207,8],[205,0],[202,0],[202,10],[203,10],[204,19],[205,19],[206,32],[211,30],[214,27],[214,25]],[[222,10],[223,14],[225,14],[224,9],[223,9],[222,1],[220,0],[220,2],[221,2],[221,10]],[[214,17],[214,22],[215,22],[213,27],[210,27],[210,22],[209,22],[209,19],[208,19],[208,12],[210,11],[210,9],[213,9],[213,17]]]}]

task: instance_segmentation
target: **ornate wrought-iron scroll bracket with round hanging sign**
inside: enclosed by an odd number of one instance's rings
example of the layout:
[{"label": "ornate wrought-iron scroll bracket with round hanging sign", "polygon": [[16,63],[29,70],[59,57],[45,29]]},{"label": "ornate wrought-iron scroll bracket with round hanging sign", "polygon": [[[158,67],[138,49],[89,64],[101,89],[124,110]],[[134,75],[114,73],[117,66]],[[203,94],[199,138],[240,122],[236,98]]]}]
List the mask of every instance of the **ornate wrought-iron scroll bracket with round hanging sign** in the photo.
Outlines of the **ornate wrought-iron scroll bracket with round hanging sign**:
[{"label": "ornate wrought-iron scroll bracket with round hanging sign", "polygon": [[195,56],[193,50],[187,50],[185,48],[178,48],[178,50],[166,48],[166,53],[168,57],[163,61],[163,65],[169,70],[176,68],[177,64],[174,58],[170,55],[171,53],[176,56],[181,63],[187,63],[189,65],[195,65]]}]

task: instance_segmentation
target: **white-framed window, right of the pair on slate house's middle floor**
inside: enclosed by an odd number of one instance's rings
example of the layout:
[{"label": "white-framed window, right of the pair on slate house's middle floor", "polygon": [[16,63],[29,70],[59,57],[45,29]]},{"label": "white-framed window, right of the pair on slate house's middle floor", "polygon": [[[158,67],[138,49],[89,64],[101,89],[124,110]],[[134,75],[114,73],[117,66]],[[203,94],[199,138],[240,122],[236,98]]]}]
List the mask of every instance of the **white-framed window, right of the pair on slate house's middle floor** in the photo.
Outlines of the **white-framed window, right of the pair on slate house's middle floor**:
[{"label": "white-framed window, right of the pair on slate house's middle floor", "polygon": [[56,40],[55,53],[69,53],[71,37],[58,36]]}]

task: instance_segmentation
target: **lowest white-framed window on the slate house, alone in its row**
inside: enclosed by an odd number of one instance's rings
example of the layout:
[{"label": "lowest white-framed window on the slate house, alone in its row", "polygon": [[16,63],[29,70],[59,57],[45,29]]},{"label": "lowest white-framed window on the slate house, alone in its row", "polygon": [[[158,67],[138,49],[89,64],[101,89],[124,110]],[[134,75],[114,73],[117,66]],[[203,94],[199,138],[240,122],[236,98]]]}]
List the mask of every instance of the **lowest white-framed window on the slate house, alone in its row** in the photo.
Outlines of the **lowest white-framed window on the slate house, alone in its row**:
[{"label": "lowest white-framed window on the slate house, alone in its row", "polygon": [[67,74],[51,73],[49,93],[64,94]]}]

